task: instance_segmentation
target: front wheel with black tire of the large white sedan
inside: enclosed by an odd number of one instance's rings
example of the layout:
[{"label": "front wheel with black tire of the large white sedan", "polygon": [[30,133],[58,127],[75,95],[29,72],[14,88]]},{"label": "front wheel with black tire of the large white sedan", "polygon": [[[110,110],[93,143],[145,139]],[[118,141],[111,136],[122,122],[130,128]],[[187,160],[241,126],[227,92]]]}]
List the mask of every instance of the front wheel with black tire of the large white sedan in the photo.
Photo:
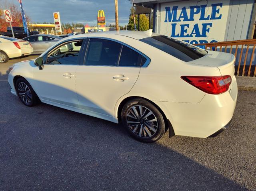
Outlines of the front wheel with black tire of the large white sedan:
[{"label": "front wheel with black tire of the large white sedan", "polygon": [[18,78],[15,83],[15,89],[21,102],[26,106],[34,106],[40,102],[31,85],[24,78]]}]

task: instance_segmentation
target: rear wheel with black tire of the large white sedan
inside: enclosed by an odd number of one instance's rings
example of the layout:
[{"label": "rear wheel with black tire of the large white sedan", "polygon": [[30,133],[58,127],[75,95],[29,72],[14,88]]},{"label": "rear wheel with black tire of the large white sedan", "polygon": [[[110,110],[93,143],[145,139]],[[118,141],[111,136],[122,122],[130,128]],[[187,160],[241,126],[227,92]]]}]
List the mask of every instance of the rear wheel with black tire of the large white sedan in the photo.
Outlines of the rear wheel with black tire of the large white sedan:
[{"label": "rear wheel with black tire of the large white sedan", "polygon": [[[147,116],[147,114],[150,115]],[[121,120],[130,136],[141,142],[155,142],[165,133],[164,117],[152,103],[142,98],[135,98],[126,102],[122,108]]]}]

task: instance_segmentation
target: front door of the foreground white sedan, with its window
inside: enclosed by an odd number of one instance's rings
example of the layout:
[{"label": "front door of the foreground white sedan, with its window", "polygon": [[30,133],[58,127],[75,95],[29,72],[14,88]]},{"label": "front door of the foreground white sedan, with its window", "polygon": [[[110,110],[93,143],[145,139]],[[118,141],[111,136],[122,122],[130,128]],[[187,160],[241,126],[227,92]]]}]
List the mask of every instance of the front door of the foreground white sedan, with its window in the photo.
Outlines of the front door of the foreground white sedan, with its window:
[{"label": "front door of the foreground white sedan, with its window", "polygon": [[[75,89],[75,73],[80,63],[81,52],[59,49],[67,43],[76,42],[78,47],[83,47],[83,39],[70,40],[57,45],[47,56],[44,68],[34,69],[34,87],[43,102],[62,107],[78,107],[78,97]],[[72,109],[72,108],[70,108]]]}]

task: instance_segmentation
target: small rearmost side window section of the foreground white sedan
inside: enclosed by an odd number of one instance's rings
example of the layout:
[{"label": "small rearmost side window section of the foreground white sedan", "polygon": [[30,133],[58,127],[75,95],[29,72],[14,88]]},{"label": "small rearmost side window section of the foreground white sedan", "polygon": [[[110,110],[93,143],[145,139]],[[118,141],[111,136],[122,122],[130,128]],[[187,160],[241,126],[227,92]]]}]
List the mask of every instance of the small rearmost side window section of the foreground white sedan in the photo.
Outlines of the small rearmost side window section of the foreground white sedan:
[{"label": "small rearmost side window section of the foreground white sedan", "polygon": [[142,55],[123,45],[118,66],[140,67]]}]

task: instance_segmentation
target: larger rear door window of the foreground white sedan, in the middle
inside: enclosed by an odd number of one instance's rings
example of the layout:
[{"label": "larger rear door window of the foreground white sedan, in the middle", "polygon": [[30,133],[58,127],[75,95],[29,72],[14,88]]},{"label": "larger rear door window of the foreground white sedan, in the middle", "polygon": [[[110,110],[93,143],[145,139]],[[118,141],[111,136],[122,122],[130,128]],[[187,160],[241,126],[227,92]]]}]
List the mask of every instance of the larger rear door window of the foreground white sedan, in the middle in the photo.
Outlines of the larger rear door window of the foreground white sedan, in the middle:
[{"label": "larger rear door window of the foreground white sedan, in the middle", "polygon": [[106,39],[90,39],[86,52],[86,65],[117,66],[121,44]]}]

